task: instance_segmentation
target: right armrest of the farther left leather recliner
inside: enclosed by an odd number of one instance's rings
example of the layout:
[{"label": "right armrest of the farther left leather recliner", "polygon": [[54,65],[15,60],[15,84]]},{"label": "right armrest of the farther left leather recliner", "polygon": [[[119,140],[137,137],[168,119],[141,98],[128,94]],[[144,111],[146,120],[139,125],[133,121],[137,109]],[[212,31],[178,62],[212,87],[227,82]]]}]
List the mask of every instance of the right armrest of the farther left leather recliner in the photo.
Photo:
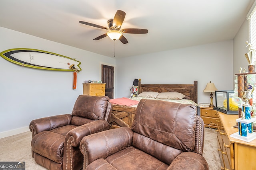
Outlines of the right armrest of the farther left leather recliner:
[{"label": "right armrest of the farther left leather recliner", "polygon": [[[91,135],[93,133],[106,131],[108,129],[109,129],[109,124],[104,119],[100,119],[97,121],[93,121],[93,122],[78,126],[70,130],[66,134],[66,142],[68,144],[67,146],[72,145],[72,147],[79,147],[80,141],[83,139],[83,137]],[[72,141],[72,142],[69,144],[69,141]]]}]

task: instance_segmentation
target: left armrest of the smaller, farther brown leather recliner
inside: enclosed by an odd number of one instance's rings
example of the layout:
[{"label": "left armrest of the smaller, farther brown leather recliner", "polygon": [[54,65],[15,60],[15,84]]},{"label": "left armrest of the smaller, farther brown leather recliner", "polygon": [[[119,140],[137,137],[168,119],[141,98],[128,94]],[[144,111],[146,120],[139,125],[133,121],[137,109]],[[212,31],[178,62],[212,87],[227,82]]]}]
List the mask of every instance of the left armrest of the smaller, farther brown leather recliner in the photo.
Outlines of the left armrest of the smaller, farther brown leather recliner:
[{"label": "left armrest of the smaller, farther brown leather recliner", "polygon": [[30,122],[29,129],[32,132],[32,136],[42,131],[50,131],[57,127],[69,125],[72,119],[72,115],[55,115],[50,117],[43,117],[35,119]]}]

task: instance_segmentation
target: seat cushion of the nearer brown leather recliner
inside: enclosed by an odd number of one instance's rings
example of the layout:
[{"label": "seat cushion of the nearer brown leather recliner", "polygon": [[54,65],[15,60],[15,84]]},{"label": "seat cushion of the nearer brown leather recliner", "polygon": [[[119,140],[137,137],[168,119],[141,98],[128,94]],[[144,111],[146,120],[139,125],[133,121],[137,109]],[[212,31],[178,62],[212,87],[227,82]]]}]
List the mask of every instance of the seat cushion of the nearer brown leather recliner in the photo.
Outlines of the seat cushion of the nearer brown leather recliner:
[{"label": "seat cushion of the nearer brown leather recliner", "polygon": [[166,170],[168,168],[167,164],[135,147],[120,150],[105,160],[116,169]]}]

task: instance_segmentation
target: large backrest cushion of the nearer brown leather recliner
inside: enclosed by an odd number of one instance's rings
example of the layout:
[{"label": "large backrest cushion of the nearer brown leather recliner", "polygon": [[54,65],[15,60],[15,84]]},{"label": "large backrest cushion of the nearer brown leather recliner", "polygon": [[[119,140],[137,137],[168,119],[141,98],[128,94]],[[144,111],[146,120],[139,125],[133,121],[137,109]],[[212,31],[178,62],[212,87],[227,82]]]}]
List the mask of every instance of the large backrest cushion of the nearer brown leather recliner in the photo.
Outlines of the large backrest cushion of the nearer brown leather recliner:
[{"label": "large backrest cushion of the nearer brown leather recliner", "polygon": [[182,151],[194,149],[195,128],[195,106],[145,99],[140,100],[132,124],[133,131]]}]

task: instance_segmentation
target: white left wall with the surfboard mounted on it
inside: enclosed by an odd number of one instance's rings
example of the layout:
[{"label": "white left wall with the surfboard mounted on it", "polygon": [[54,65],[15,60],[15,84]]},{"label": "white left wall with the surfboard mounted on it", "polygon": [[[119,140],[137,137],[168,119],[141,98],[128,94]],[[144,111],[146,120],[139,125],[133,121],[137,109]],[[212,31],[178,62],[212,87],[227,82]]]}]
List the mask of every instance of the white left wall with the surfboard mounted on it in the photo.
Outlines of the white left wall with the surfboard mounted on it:
[{"label": "white left wall with the surfboard mounted on it", "polygon": [[75,58],[82,68],[78,73],[77,89],[73,90],[73,72],[21,67],[0,57],[0,137],[1,132],[28,127],[33,119],[70,114],[76,98],[82,94],[84,80],[101,80],[101,64],[116,64],[110,57],[3,27],[0,27],[0,37],[0,51],[40,49]]}]

